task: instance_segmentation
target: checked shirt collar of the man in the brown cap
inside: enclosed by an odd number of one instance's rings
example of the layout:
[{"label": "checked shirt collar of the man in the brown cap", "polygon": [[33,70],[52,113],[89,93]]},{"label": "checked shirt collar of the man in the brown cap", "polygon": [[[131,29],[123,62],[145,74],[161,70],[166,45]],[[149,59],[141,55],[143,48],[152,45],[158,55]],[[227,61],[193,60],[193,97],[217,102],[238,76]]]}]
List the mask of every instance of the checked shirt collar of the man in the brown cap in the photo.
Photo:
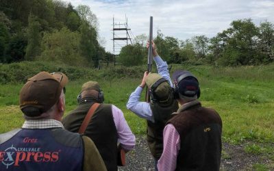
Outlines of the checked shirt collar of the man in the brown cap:
[{"label": "checked shirt collar of the man in the brown cap", "polygon": [[23,129],[49,129],[49,128],[62,128],[64,129],[63,124],[54,119],[49,120],[25,120]]}]

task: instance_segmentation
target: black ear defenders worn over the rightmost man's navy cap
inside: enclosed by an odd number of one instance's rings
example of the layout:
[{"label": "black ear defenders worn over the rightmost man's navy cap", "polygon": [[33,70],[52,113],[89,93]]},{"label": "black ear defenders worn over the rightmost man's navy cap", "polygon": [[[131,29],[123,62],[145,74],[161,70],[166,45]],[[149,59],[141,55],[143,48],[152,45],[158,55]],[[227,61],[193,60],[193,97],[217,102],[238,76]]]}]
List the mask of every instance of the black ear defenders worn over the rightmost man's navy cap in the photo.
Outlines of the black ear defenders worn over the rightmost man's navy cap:
[{"label": "black ear defenders worn over the rightmost man's navy cap", "polygon": [[[174,88],[173,88],[173,96],[175,99],[178,99],[179,98],[179,82],[182,81],[183,79],[186,79],[186,77],[193,77],[197,80],[197,82],[199,83],[198,79],[192,75],[191,73],[184,73],[183,75],[179,76],[177,79],[173,80],[173,84],[174,84]],[[189,92],[184,92],[183,95],[191,95],[189,94]],[[199,98],[201,95],[201,90],[200,90],[200,87],[198,88],[198,91],[197,91],[197,98]]]}]

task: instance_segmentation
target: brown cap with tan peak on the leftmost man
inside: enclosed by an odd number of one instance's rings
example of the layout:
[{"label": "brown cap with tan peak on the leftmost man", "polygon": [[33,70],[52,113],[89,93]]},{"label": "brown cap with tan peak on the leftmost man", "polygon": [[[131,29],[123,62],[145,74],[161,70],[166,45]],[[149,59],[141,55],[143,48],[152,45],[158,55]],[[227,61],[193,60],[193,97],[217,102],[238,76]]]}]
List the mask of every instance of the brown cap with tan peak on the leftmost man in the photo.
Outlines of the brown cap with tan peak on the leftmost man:
[{"label": "brown cap with tan peak on the leftmost man", "polygon": [[[20,91],[20,109],[27,116],[39,116],[58,102],[62,88],[69,82],[63,73],[42,71],[27,79]],[[31,108],[32,110],[28,110]]]}]

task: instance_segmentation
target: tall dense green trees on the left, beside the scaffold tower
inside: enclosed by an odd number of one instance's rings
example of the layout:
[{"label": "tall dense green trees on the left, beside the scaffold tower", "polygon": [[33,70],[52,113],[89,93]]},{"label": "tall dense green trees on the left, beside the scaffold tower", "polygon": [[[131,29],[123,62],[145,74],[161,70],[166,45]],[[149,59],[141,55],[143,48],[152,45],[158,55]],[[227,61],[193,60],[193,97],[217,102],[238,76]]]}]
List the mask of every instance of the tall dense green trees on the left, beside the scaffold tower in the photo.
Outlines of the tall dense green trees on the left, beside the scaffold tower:
[{"label": "tall dense green trees on the left, beside the scaffold tower", "polygon": [[0,1],[0,63],[23,60],[95,66],[110,54],[99,44],[87,5],[59,0]]}]

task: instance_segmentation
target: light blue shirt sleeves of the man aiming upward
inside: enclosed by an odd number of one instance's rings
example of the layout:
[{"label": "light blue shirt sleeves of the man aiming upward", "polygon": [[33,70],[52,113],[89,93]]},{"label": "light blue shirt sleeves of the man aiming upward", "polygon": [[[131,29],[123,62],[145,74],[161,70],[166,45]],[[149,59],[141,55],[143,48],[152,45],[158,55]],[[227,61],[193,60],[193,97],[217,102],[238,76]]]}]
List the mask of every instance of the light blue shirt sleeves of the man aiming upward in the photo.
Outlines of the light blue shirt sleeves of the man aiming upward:
[{"label": "light blue shirt sleeves of the man aiming upward", "polygon": [[[171,87],[173,87],[171,76],[169,75],[169,68],[166,62],[164,62],[160,56],[153,57],[153,60],[157,66],[158,74],[161,75],[164,79],[168,80]],[[149,103],[140,102],[141,93],[142,88],[138,86],[136,90],[130,94],[129,101],[127,102],[127,109],[132,111],[140,118],[145,118],[151,122],[154,122]]]}]

